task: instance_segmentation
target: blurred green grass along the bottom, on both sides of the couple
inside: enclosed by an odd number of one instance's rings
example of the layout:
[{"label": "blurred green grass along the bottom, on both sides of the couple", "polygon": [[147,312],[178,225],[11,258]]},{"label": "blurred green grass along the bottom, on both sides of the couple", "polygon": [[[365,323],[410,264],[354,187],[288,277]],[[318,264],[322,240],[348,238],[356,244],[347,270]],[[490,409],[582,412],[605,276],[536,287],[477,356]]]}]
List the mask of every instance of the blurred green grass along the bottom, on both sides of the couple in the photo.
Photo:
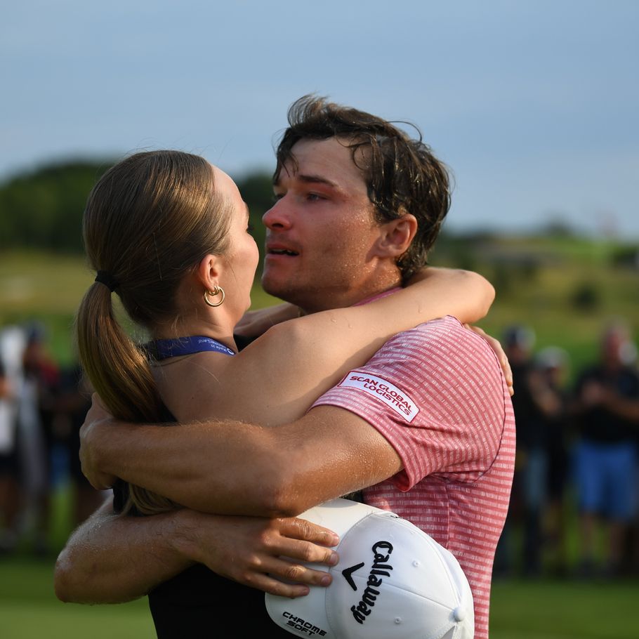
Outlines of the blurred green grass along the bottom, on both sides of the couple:
[{"label": "blurred green grass along the bottom, on both sides of the couple", "polygon": [[[3,639],[155,636],[145,598],[121,605],[98,606],[62,604],[56,600],[53,560],[26,556],[0,559],[0,574],[0,636]],[[638,595],[637,581],[496,581],[492,589],[490,636],[492,639],[636,639],[639,637]]]}]

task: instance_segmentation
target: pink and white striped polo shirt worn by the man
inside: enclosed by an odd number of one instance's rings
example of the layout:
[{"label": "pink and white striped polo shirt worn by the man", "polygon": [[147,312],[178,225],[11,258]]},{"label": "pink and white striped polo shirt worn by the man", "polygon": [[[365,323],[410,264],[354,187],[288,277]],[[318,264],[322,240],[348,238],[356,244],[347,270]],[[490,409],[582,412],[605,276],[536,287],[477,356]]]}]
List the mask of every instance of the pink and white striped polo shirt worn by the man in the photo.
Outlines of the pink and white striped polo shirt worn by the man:
[{"label": "pink and white striped polo shirt worn by the man", "polygon": [[487,639],[490,582],[510,498],[515,418],[492,348],[454,317],[391,338],[315,406],[351,411],[397,450],[404,470],[364,491],[459,561]]}]

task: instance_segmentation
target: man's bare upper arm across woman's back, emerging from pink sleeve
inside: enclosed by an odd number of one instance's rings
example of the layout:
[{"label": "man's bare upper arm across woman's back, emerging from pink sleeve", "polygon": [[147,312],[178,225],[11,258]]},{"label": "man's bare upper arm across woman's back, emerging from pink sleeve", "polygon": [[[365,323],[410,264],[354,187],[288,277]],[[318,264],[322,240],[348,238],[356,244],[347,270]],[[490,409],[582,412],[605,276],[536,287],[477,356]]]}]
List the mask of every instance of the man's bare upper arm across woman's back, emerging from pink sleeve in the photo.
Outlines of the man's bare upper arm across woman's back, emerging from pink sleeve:
[{"label": "man's bare upper arm across woman's back, emerging from pink sleeve", "polygon": [[117,476],[189,508],[229,515],[297,515],[402,469],[383,435],[331,406],[270,428],[231,421],[158,427],[116,422],[94,400],[81,442],[83,470],[95,487]]}]

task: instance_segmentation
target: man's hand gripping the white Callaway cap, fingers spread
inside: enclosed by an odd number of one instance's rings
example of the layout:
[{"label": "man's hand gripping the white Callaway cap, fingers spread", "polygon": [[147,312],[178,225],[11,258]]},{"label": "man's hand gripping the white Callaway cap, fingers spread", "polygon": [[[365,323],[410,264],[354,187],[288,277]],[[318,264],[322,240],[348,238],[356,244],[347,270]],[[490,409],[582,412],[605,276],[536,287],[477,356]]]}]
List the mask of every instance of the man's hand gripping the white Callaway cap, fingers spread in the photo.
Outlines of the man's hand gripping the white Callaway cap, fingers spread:
[{"label": "man's hand gripping the white Callaway cap, fingers spread", "polygon": [[338,555],[328,546],[336,546],[339,539],[326,528],[298,518],[203,515],[194,510],[183,515],[173,541],[176,549],[222,577],[291,598],[307,595],[308,586],[331,583],[327,572],[301,565],[336,565]]}]

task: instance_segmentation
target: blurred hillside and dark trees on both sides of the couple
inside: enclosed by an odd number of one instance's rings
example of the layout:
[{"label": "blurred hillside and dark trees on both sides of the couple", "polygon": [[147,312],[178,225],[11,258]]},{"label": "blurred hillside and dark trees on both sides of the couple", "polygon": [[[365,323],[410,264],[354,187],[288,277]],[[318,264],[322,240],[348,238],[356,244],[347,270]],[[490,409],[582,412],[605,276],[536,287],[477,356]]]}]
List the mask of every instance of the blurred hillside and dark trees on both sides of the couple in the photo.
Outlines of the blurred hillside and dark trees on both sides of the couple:
[{"label": "blurred hillside and dark trees on both sides of the couple", "polygon": [[[40,322],[63,361],[72,359],[72,318],[92,279],[82,257],[82,211],[110,164],[44,166],[0,184],[0,327]],[[237,184],[262,249],[270,175],[254,173]],[[637,241],[579,237],[559,225],[522,237],[452,235],[444,229],[431,263],[485,275],[497,298],[482,327],[499,337],[506,327],[525,324],[536,334],[536,348],[562,346],[574,368],[594,357],[608,320],[623,318],[639,334]],[[256,287],[254,306],[272,301]]]}]

